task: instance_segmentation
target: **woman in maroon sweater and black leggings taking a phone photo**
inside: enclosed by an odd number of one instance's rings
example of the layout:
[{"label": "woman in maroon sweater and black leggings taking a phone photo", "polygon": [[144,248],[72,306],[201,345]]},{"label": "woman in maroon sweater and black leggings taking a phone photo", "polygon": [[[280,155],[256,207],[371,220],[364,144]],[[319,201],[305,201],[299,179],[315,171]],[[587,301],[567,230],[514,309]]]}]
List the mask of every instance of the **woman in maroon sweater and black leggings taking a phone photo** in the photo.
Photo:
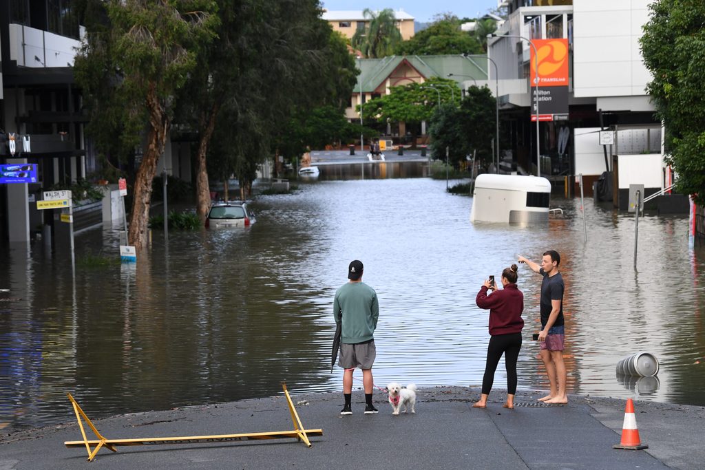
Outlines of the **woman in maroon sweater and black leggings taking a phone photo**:
[{"label": "woman in maroon sweater and black leggings taking a phone photo", "polygon": [[[504,354],[507,366],[507,402],[502,406],[514,408],[514,394],[517,391],[517,358],[522,349],[522,311],[524,311],[524,294],[517,289],[517,265],[502,271],[502,290],[490,285],[486,280],[477,292],[475,302],[481,309],[489,309],[489,346],[487,347],[487,363],[482,378],[482,397],[472,405],[473,408],[486,408],[487,396],[492,390],[494,371],[499,359]],[[488,290],[494,290],[487,295]]]}]

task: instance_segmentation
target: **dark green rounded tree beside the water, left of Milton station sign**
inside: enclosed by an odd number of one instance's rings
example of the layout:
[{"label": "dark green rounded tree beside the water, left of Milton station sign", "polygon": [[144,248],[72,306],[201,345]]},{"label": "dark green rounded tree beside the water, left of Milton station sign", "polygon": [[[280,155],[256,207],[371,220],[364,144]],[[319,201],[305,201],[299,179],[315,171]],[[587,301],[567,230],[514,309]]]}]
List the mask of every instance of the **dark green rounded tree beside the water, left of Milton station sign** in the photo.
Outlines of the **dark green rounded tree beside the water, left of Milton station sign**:
[{"label": "dark green rounded tree beside the water, left of Milton station sign", "polygon": [[496,135],[496,102],[487,87],[470,87],[460,108],[441,106],[429,126],[431,150],[435,158],[445,158],[457,165],[466,155],[490,161],[491,140]]}]

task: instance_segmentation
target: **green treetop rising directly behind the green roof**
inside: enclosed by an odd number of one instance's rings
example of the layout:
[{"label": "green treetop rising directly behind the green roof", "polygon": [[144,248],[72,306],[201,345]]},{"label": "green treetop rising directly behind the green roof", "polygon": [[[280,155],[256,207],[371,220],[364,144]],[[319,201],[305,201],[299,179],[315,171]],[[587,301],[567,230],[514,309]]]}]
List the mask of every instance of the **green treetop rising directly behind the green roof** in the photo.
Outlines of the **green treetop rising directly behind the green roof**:
[{"label": "green treetop rising directly behind the green roof", "polygon": [[[494,22],[493,22],[494,23]],[[455,16],[441,16],[425,30],[399,44],[397,54],[432,56],[442,54],[481,54],[482,44],[469,32],[460,30]]]}]

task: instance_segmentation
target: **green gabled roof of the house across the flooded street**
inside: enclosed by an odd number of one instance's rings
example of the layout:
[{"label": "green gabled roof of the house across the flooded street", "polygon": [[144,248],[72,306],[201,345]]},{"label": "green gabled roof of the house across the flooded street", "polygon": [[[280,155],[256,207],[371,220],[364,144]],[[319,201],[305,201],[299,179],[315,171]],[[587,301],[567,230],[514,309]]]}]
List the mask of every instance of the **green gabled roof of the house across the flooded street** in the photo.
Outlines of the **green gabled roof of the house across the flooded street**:
[{"label": "green gabled roof of the house across the flooded street", "polygon": [[[372,93],[403,62],[407,61],[424,78],[450,78],[459,84],[467,80],[486,80],[487,63],[483,56],[388,56],[385,58],[362,58],[357,61],[361,73],[353,92]],[[448,74],[453,75],[448,77]]]}]

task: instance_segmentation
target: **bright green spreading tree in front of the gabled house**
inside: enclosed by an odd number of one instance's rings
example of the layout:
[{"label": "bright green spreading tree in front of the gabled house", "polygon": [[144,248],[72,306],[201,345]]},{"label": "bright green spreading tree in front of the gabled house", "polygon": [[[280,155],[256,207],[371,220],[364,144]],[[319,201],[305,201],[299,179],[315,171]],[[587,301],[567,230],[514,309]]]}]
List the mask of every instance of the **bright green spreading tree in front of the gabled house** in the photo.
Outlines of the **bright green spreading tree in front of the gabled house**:
[{"label": "bright green spreading tree in front of the gabled house", "polygon": [[[440,85],[433,89],[434,85]],[[450,88],[449,88],[450,87]],[[453,89],[453,92],[451,92]],[[432,77],[423,84],[410,83],[401,87],[392,87],[391,94],[384,94],[362,105],[362,115],[366,120],[377,123],[404,121],[420,123],[430,120],[439,103],[451,103],[453,96],[460,99],[460,88],[453,80]],[[358,108],[359,109],[359,108]]]}]

